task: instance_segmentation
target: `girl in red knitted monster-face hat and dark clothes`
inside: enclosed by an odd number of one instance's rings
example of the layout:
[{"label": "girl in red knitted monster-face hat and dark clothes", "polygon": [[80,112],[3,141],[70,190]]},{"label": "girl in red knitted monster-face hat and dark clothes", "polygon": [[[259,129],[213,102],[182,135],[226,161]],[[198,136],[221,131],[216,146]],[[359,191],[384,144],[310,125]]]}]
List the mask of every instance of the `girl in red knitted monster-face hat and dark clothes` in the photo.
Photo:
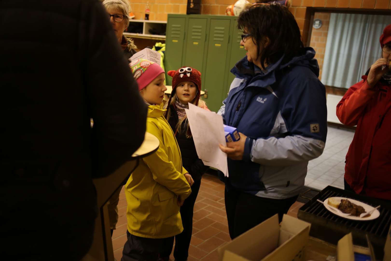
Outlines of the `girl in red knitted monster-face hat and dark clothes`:
[{"label": "girl in red knitted monster-face hat and dark clothes", "polygon": [[190,131],[185,109],[189,103],[209,110],[205,102],[200,99],[201,73],[192,67],[182,67],[167,73],[172,77],[172,92],[167,103],[165,118],[169,122],[175,137],[178,140],[182,153],[183,167],[188,170],[194,180],[192,194],[181,206],[183,232],[175,236],[174,257],[176,261],[185,261],[193,229],[193,208],[201,185],[201,177],[209,168],[204,166],[197,156],[194,140]]}]

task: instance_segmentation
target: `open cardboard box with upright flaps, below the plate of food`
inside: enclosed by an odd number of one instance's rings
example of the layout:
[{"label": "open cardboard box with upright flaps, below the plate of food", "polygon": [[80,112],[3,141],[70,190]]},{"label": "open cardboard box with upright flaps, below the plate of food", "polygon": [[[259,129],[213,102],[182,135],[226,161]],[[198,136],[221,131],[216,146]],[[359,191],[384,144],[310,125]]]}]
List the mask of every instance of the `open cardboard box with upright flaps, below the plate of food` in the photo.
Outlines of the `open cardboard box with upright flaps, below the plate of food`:
[{"label": "open cardboard box with upright flaps, below the plate of food", "polygon": [[339,239],[337,261],[375,261],[375,254],[367,236],[368,247],[353,245],[352,233]]}]

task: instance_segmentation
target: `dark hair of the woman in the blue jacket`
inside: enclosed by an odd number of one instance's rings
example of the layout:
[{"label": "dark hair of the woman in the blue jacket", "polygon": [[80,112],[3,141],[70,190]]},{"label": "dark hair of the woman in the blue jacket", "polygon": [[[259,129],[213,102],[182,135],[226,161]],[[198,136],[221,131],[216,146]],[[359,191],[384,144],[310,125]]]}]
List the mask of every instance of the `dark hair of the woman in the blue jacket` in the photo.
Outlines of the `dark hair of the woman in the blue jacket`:
[{"label": "dark hair of the woman in the blue jacket", "polygon": [[[238,29],[244,29],[253,36],[258,56],[265,69],[264,63],[275,63],[283,55],[282,63],[287,63],[300,53],[304,47],[301,41],[300,29],[288,8],[280,4],[255,4],[240,13]],[[260,51],[265,37],[269,44]]]}]

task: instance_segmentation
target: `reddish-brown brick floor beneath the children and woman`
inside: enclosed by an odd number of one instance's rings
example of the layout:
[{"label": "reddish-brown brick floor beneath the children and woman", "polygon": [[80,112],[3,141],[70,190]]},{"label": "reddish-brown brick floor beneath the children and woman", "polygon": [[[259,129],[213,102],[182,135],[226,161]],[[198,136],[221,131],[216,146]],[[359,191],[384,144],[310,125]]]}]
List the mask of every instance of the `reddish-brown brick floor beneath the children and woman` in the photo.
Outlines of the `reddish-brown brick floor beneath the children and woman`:
[{"label": "reddish-brown brick floor beneath the children and woman", "polygon": [[[125,192],[120,193],[121,206],[118,209],[119,222],[113,233],[114,257],[118,261],[126,242]],[[297,217],[303,203],[295,202],[288,215]],[[218,260],[217,248],[231,241],[224,205],[224,184],[213,175],[205,174],[194,205],[193,235],[189,247],[188,261]],[[174,256],[170,257],[174,260]]]}]

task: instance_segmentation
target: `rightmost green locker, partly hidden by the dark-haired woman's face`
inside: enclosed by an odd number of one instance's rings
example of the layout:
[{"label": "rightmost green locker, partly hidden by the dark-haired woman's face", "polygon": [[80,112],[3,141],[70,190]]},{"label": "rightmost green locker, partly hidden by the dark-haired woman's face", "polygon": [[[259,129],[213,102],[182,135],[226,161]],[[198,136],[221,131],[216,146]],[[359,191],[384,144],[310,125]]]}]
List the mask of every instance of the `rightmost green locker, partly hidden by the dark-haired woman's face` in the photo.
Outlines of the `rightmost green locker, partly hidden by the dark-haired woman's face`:
[{"label": "rightmost green locker, partly hidden by the dark-haired woman's face", "polygon": [[[228,91],[230,90],[230,85],[233,79],[235,79],[235,76],[230,72],[230,70],[235,66],[235,64],[240,61],[244,56],[246,56],[246,50],[244,50],[244,46],[240,45],[240,41],[242,40],[242,34],[243,30],[238,30],[238,22],[237,19],[233,20],[233,23],[231,25],[231,46],[230,46],[230,61],[227,63],[227,83],[226,83],[226,90],[225,93],[228,94]],[[225,99],[225,97],[224,97]]]}]

